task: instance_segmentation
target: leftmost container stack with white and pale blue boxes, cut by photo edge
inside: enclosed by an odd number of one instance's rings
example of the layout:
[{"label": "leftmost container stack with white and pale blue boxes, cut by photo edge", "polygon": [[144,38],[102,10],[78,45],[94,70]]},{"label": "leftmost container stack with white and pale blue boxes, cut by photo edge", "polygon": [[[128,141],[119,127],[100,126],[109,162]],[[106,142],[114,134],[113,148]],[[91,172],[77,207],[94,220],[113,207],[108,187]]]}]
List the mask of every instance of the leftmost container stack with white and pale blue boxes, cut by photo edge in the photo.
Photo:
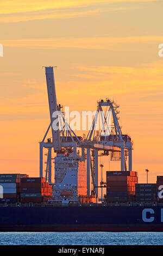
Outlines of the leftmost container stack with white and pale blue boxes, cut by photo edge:
[{"label": "leftmost container stack with white and pale blue boxes, cut by photo edge", "polygon": [[16,203],[19,200],[20,179],[26,174],[0,174],[0,203]]}]

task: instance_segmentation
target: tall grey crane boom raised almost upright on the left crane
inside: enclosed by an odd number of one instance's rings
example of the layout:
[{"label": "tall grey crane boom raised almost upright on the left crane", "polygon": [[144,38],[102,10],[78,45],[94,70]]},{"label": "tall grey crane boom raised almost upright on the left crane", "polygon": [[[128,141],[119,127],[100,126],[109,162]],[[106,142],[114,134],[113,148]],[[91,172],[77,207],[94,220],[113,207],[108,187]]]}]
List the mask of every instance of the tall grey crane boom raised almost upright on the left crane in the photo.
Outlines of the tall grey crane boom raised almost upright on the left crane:
[{"label": "tall grey crane boom raised almost upright on the left crane", "polygon": [[57,113],[57,98],[55,93],[55,82],[54,82],[54,72],[53,66],[46,66],[46,83],[47,83],[47,91],[48,91],[48,101],[49,101],[49,112],[51,117],[51,127],[52,127],[52,137],[53,137],[53,147],[54,152],[59,152],[61,150],[61,141],[60,141],[60,131],[59,131],[59,123],[58,130],[53,129],[53,122],[57,121],[58,114],[53,116],[53,113]]}]

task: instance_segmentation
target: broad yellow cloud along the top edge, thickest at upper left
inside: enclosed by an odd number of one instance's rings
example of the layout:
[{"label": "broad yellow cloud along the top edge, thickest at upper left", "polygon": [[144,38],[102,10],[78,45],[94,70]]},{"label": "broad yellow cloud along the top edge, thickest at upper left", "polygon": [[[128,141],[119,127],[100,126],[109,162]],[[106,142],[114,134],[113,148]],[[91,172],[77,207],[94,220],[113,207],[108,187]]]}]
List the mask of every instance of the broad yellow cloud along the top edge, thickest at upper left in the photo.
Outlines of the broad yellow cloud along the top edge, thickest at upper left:
[{"label": "broad yellow cloud along the top edge, thickest at upper left", "polygon": [[[0,23],[44,19],[73,19],[105,11],[106,7],[102,8],[102,4],[159,1],[162,0],[41,0],[39,3],[37,0],[29,0],[26,3],[21,0],[9,0],[0,2]],[[86,10],[88,7],[90,10]],[[83,8],[85,10],[82,10]],[[112,8],[110,5],[107,10],[118,11],[129,8],[123,6]]]}]

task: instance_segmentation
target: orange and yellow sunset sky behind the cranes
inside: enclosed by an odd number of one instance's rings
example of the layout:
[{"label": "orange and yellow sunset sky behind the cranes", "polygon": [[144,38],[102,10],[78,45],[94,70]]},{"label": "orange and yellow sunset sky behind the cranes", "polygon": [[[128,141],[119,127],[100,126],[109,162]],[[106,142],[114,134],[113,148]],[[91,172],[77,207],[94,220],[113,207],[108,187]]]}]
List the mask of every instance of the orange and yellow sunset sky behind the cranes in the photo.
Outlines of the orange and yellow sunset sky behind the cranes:
[{"label": "orange and yellow sunset sky behind the cranes", "polygon": [[39,176],[49,125],[42,66],[54,65],[58,102],[95,111],[97,100],[114,99],[139,182],[146,168],[149,182],[163,175],[162,10],[163,1],[150,0],[0,2],[1,173]]}]

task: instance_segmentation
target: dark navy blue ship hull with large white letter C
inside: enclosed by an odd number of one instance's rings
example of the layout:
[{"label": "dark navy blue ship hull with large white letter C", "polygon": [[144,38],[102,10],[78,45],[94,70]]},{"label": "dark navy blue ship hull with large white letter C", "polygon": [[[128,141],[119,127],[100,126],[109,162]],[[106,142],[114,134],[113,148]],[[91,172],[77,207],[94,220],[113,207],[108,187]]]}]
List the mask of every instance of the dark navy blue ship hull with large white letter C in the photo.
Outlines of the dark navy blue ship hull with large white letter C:
[{"label": "dark navy blue ship hull with large white letter C", "polygon": [[0,231],[163,231],[163,207],[1,207]]}]

